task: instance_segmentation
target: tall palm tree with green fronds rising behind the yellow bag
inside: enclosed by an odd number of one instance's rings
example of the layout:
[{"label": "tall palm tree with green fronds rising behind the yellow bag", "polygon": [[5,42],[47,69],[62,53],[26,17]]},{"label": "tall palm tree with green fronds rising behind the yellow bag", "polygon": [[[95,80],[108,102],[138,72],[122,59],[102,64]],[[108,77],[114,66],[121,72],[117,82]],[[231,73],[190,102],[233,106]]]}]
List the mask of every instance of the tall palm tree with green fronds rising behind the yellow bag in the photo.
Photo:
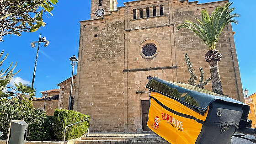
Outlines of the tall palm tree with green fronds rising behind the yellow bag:
[{"label": "tall palm tree with green fronds rising behind the yellow bag", "polygon": [[232,3],[227,3],[224,6],[217,7],[211,16],[206,10],[203,10],[202,21],[196,19],[199,24],[185,21],[177,27],[177,30],[184,27],[195,32],[208,46],[209,51],[205,54],[205,60],[210,64],[213,92],[220,95],[223,95],[218,64],[221,59],[221,53],[216,50],[216,43],[219,41],[219,36],[227,24],[231,22],[237,23],[234,18],[239,15],[231,14],[235,10],[235,8],[230,8],[231,5]]}]

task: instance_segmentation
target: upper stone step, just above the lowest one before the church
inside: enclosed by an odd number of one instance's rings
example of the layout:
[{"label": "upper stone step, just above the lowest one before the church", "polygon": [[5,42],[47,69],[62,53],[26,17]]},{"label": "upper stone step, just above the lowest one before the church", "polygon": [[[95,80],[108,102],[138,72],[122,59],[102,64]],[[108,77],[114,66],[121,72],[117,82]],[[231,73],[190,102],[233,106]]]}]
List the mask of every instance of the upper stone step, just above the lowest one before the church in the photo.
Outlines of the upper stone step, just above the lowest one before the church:
[{"label": "upper stone step, just above the lowest one before the church", "polygon": [[149,140],[163,140],[160,137],[81,137],[82,140],[135,140],[135,141],[149,141]]}]

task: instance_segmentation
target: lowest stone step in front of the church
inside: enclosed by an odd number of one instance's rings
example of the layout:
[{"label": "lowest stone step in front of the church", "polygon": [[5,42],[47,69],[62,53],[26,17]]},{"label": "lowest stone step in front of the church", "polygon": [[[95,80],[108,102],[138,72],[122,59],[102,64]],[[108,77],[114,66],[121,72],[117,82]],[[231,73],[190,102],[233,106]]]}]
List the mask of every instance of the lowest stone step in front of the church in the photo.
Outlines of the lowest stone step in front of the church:
[{"label": "lowest stone step in front of the church", "polygon": [[75,144],[170,144],[164,140],[76,140]]}]

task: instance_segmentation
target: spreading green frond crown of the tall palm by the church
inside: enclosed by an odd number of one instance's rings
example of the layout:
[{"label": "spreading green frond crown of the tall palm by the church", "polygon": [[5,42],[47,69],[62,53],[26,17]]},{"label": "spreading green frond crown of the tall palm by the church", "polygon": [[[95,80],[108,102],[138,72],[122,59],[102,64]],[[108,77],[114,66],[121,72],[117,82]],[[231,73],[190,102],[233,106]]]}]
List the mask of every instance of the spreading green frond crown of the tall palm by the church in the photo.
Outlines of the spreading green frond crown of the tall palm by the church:
[{"label": "spreading green frond crown of the tall palm by the church", "polygon": [[199,24],[185,21],[177,27],[177,30],[184,27],[195,32],[208,46],[209,50],[214,50],[224,27],[231,22],[237,23],[235,17],[239,15],[231,14],[235,10],[235,8],[230,8],[231,5],[232,3],[227,3],[224,6],[217,7],[212,12],[211,16],[209,16],[206,10],[203,10],[201,13],[201,21],[196,19]]}]

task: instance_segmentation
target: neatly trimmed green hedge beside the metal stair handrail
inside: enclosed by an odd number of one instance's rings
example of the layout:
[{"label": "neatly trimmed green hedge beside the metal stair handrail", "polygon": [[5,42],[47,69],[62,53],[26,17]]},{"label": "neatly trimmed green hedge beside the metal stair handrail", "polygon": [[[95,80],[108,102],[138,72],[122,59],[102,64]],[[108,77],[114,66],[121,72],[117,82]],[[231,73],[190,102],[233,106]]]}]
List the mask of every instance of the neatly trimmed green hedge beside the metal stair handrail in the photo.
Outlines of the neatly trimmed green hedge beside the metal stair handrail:
[{"label": "neatly trimmed green hedge beside the metal stair handrail", "polygon": [[[64,128],[70,124],[79,122],[81,120],[89,119],[88,115],[80,112],[69,111],[65,109],[55,109],[54,111],[54,134],[58,140],[62,141],[64,138]],[[66,129],[65,140],[80,138],[87,133],[89,121],[78,123]]]}]

